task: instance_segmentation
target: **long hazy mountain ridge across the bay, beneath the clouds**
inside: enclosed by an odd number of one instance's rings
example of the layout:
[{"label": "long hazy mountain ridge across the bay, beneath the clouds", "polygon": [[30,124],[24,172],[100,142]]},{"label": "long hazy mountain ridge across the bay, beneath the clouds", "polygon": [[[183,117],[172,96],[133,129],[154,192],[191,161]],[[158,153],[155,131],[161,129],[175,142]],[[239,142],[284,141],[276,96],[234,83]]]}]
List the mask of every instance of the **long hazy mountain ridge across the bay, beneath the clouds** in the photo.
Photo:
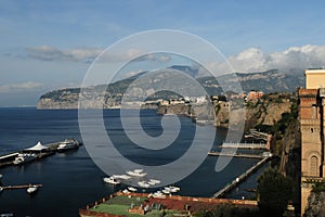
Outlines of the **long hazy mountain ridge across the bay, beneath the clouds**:
[{"label": "long hazy mountain ridge across the bay, beneath the clouds", "polygon": [[[238,80],[245,92],[249,92],[250,90],[260,90],[264,93],[294,92],[298,87],[304,86],[303,73],[301,73],[300,76],[298,73],[283,73],[277,69],[272,69],[261,73],[236,73],[237,79],[234,78],[234,74],[223,75],[217,78],[195,78],[198,74],[197,69],[190,66],[173,65],[158,71],[158,76],[146,76],[146,72],[143,72],[108,86],[100,85],[89,87],[86,91],[87,98],[99,99],[99,97],[104,97],[104,107],[109,108],[120,105],[121,99],[127,90],[129,90],[127,97],[133,101],[143,98],[147,100],[176,98],[179,97],[178,93],[180,92],[186,94],[183,97],[198,97],[200,93],[197,91],[197,88],[194,87],[193,82],[178,76],[180,71],[193,77],[193,80],[196,79],[198,86],[204,87],[206,92],[210,95],[223,94],[223,90],[219,84],[220,80],[225,81],[229,89],[232,89],[232,86],[235,86],[236,80]],[[134,80],[141,76],[143,79],[134,85]],[[161,89],[164,90],[161,91]],[[38,108],[77,108],[79,92],[80,88],[67,88],[48,92],[40,97]],[[96,101],[94,100],[87,105],[87,107],[103,106],[100,102],[99,104],[94,104],[94,102]]]}]

